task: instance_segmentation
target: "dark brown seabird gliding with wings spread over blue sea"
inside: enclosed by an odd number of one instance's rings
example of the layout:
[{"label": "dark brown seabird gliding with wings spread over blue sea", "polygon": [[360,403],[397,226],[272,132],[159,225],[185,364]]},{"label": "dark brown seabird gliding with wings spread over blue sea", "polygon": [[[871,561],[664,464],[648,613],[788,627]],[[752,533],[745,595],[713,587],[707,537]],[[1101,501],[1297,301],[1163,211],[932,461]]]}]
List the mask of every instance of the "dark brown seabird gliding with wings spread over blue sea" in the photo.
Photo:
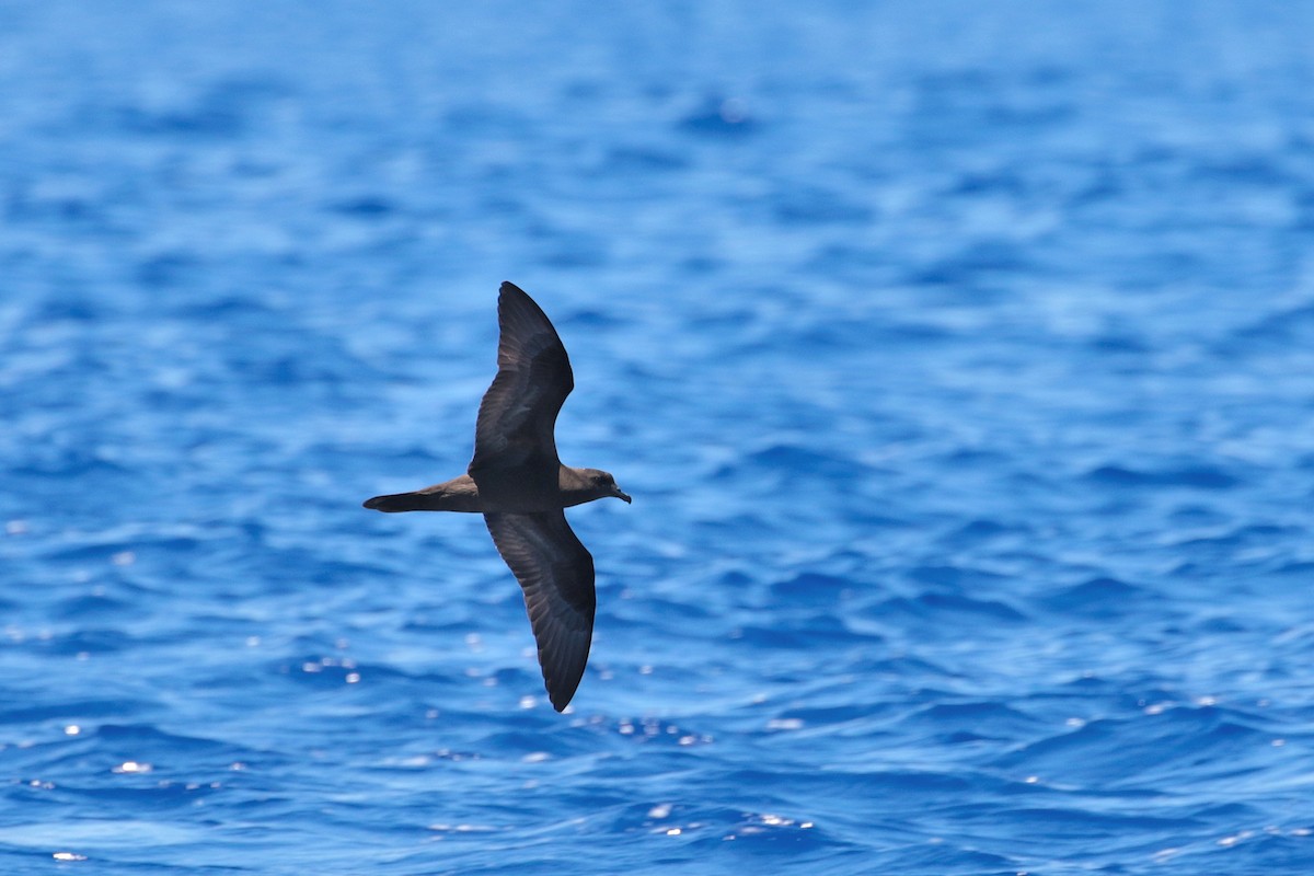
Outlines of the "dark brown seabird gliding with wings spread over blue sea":
[{"label": "dark brown seabird gliding with wings spread over blue sea", "polygon": [[615,496],[616,479],[557,458],[557,412],[574,389],[566,348],[522,289],[502,284],[497,377],[484,393],[466,474],[414,493],[365,500],[376,511],[482,514],[493,544],[524,590],[552,707],[570,703],[593,641],[593,556],[564,508]]}]

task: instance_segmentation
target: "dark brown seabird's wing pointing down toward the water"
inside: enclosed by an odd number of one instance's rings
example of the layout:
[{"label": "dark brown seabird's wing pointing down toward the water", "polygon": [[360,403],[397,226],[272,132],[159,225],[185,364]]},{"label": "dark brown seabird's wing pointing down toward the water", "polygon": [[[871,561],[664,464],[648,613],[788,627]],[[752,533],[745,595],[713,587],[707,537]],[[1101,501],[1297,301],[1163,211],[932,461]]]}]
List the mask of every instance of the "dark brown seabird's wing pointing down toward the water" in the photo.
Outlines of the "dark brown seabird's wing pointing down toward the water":
[{"label": "dark brown seabird's wing pointing down toward the water", "polygon": [[524,590],[543,683],[560,712],[574,696],[589,662],[597,605],[593,556],[562,511],[485,514],[484,520]]}]

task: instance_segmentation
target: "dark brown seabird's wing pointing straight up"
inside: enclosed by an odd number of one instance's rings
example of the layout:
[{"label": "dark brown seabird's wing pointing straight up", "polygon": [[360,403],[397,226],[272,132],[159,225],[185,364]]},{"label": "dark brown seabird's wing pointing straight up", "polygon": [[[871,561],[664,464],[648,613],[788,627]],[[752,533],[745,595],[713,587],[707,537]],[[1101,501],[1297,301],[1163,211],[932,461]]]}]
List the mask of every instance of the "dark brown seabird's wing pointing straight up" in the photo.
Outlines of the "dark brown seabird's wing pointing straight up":
[{"label": "dark brown seabird's wing pointing straight up", "polygon": [[[557,489],[557,412],[574,389],[566,348],[552,323],[518,286],[503,282],[497,306],[497,377],[480,403],[470,474],[523,469]],[[482,486],[481,486],[482,489]]]}]

